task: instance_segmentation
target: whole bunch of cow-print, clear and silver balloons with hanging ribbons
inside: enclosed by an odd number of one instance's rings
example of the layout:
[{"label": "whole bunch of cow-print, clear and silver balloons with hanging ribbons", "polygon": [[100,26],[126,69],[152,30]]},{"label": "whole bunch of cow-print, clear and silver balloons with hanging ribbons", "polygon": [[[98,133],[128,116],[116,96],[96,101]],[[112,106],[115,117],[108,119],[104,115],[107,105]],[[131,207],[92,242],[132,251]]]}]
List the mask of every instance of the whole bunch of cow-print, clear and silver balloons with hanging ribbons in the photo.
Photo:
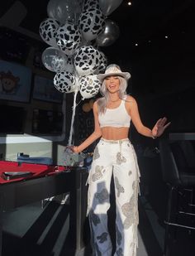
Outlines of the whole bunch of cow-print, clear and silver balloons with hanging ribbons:
[{"label": "whole bunch of cow-print, clear and silver balloons with hanging ribbons", "polygon": [[[76,97],[98,94],[107,57],[99,46],[110,46],[119,36],[116,22],[107,19],[122,0],[50,0],[48,18],[40,23],[40,36],[49,47],[42,53],[46,69],[55,72],[54,85],[61,93],[74,93],[69,133],[72,144]],[[96,47],[95,47],[95,46]]]}]

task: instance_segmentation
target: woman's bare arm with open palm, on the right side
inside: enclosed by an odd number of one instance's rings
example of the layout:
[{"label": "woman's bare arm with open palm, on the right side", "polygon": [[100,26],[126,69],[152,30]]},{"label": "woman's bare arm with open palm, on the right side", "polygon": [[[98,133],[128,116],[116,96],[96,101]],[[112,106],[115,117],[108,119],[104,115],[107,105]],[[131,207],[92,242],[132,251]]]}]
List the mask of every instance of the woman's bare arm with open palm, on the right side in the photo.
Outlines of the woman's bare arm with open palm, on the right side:
[{"label": "woman's bare arm with open palm, on the right side", "polygon": [[131,96],[128,96],[127,98],[126,108],[128,113],[131,115],[132,123],[136,127],[137,132],[146,137],[159,137],[164,133],[165,128],[167,128],[170,124],[170,122],[166,123],[167,118],[159,118],[159,120],[155,123],[154,128],[147,128],[140,120],[140,114],[136,103],[136,99],[134,99]]}]

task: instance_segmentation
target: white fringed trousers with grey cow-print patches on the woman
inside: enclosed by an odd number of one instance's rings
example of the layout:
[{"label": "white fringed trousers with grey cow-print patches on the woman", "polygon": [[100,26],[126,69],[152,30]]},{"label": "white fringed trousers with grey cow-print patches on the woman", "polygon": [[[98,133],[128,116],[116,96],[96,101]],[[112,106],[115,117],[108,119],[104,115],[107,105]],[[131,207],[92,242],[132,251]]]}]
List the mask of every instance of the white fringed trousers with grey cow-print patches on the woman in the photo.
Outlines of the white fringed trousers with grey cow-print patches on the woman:
[{"label": "white fringed trousers with grey cow-print patches on the woman", "polygon": [[102,138],[94,150],[88,176],[88,219],[93,256],[112,255],[107,230],[112,174],[117,214],[114,256],[136,256],[140,171],[136,152],[128,138],[117,141]]}]

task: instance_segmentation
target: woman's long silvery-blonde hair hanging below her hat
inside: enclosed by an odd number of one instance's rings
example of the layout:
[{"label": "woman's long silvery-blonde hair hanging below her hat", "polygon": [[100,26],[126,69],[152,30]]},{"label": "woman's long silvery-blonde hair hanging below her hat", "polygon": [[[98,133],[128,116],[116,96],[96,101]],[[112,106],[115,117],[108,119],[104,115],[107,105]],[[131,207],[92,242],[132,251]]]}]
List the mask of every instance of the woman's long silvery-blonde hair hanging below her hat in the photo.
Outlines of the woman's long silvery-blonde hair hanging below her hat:
[{"label": "woman's long silvery-blonde hair hanging below her hat", "polygon": [[[119,99],[125,100],[126,99],[126,87],[127,87],[127,81],[121,76],[117,76],[120,81],[120,87],[119,87]],[[102,86],[100,89],[100,93],[102,94],[102,98],[98,99],[98,112],[99,113],[105,113],[107,104],[109,101],[109,92],[107,90],[106,86],[106,80],[103,80]]]}]

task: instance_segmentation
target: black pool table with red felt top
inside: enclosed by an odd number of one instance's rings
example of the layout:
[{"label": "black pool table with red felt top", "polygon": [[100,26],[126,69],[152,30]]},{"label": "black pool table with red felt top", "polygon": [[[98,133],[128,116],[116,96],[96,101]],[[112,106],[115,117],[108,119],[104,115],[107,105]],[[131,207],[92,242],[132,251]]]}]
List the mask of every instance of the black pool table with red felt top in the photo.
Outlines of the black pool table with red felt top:
[{"label": "black pool table with red felt top", "polygon": [[[25,178],[4,180],[2,172],[31,171]],[[83,167],[48,166],[44,164],[0,161],[0,215],[3,211],[31,204],[51,196],[70,192],[70,223],[73,247],[83,249],[83,223],[86,219],[85,181],[88,171]],[[0,216],[0,256],[2,255],[2,218]]]}]

